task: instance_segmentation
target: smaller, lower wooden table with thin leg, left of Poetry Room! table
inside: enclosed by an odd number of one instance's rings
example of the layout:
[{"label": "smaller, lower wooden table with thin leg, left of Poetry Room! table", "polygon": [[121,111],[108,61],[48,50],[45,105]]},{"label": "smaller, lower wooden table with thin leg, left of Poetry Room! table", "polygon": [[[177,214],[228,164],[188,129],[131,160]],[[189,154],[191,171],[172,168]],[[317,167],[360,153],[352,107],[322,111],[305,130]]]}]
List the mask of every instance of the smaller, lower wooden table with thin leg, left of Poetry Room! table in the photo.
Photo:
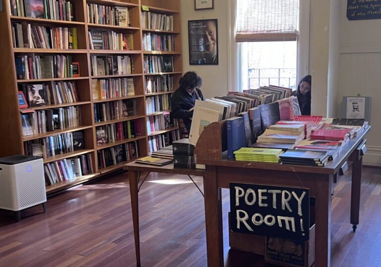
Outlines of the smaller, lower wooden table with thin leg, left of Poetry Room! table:
[{"label": "smaller, lower wooden table with thin leg, left of Poetry Room! table", "polygon": [[[139,237],[139,207],[138,207],[138,179],[141,172],[157,172],[167,174],[194,175],[205,177],[205,170],[174,168],[173,164],[165,166],[145,165],[135,162],[127,163],[123,167],[128,170],[129,192],[131,195],[133,236],[135,239],[136,266],[140,266],[140,237]],[[190,177],[191,178],[191,177]],[[193,181],[193,180],[192,180]],[[193,182],[194,183],[194,182]]]}]

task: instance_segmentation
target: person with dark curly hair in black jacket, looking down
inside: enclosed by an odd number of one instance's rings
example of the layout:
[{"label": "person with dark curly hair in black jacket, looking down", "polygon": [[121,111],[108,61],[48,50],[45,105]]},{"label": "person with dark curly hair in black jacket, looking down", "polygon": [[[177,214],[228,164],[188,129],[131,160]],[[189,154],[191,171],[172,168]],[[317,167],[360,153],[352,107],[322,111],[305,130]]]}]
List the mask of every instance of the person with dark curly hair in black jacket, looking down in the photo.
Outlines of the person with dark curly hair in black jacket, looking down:
[{"label": "person with dark curly hair in black jacket, looking down", "polygon": [[180,87],[172,95],[171,106],[174,119],[182,119],[188,132],[191,131],[191,119],[196,99],[204,100],[200,86],[202,80],[195,71],[188,71],[180,79]]}]

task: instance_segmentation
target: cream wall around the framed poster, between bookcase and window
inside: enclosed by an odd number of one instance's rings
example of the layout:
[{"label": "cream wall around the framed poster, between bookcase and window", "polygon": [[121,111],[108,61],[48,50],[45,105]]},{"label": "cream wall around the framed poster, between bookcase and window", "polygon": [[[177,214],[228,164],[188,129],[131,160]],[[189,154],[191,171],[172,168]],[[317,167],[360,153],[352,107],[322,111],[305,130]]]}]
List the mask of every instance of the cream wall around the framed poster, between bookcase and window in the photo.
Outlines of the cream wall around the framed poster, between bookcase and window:
[{"label": "cream wall around the framed poster, between bookcase and window", "polygon": [[[202,78],[204,97],[228,93],[228,0],[215,0],[214,9],[194,10],[193,0],[181,0],[183,71],[195,70]],[[188,20],[218,19],[218,65],[189,65]],[[229,89],[230,90],[230,89]]]}]

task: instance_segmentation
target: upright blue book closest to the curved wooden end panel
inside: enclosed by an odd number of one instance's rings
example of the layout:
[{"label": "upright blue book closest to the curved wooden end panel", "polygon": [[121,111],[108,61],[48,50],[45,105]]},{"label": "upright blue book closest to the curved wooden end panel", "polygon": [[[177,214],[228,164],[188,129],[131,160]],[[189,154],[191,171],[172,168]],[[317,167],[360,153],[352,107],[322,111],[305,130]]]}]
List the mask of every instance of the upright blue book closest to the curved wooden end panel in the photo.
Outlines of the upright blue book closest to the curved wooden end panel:
[{"label": "upright blue book closest to the curved wooden end panel", "polygon": [[234,151],[246,147],[245,123],[243,117],[226,121],[228,158],[234,159]]}]

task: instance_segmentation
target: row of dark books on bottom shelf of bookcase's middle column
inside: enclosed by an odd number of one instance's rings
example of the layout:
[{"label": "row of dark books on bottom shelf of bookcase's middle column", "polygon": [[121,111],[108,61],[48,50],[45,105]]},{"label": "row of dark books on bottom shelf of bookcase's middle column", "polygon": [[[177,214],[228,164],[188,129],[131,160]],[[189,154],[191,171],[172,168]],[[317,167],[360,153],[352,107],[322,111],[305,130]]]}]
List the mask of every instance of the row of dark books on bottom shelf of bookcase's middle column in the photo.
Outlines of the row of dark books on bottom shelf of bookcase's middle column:
[{"label": "row of dark books on bottom shelf of bookcase's middle column", "polygon": [[124,143],[98,150],[97,155],[98,168],[103,169],[108,166],[137,158],[139,156],[139,146],[136,141]]}]

